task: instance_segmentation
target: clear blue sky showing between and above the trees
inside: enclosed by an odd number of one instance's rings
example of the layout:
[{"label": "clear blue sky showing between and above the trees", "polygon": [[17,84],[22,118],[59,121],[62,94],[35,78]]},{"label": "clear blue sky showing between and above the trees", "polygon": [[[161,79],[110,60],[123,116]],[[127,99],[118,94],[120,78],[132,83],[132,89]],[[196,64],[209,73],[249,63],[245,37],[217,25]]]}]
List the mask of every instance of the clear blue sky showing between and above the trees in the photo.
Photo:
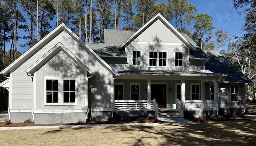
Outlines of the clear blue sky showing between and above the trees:
[{"label": "clear blue sky showing between and above the trees", "polygon": [[[156,3],[162,2],[167,4],[168,0],[156,0]],[[218,29],[229,32],[231,37],[243,34],[241,28],[244,25],[244,16],[235,15],[233,3],[230,0],[188,0],[188,2],[196,6],[197,14],[203,13],[213,17],[213,26],[215,27],[213,30],[213,40],[216,40],[214,32]],[[170,23],[174,25],[173,22]],[[54,26],[52,29],[54,29]],[[20,40],[19,44],[24,44],[25,42],[26,40]],[[7,45],[7,48],[9,47]],[[19,46],[18,51],[23,54],[27,49],[27,47],[21,48]]]}]

